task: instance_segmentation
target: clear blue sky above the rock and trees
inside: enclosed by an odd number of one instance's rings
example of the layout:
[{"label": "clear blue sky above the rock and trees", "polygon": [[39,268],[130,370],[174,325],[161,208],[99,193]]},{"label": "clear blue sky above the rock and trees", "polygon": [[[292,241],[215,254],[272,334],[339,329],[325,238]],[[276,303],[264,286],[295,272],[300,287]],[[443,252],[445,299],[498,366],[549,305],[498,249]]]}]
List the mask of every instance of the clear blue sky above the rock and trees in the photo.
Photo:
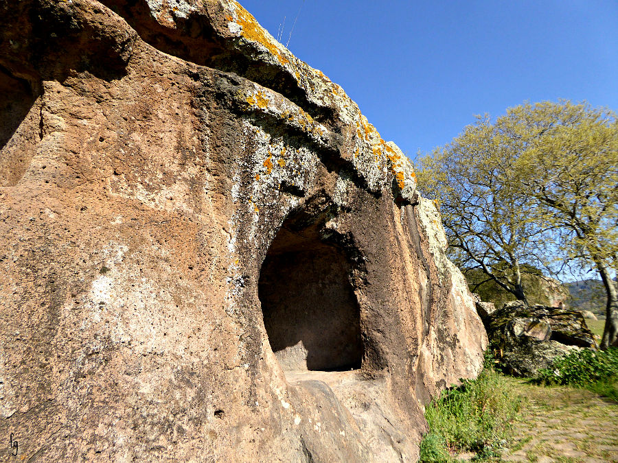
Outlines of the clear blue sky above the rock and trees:
[{"label": "clear blue sky above the rock and trees", "polygon": [[240,0],[414,158],[525,101],[618,110],[618,0]]}]

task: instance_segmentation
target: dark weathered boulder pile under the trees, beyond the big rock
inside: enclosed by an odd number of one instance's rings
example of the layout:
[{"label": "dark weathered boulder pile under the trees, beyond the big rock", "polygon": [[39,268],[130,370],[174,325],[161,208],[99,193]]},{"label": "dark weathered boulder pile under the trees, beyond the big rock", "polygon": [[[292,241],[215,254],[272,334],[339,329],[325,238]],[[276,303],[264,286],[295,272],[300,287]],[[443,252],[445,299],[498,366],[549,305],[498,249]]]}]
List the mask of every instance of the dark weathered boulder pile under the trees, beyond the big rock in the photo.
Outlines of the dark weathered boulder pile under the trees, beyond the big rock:
[{"label": "dark weathered boulder pile under the trees, beyond the big rock", "polygon": [[501,368],[513,375],[534,377],[555,357],[577,348],[597,348],[593,333],[577,310],[515,301],[483,316],[490,346]]}]

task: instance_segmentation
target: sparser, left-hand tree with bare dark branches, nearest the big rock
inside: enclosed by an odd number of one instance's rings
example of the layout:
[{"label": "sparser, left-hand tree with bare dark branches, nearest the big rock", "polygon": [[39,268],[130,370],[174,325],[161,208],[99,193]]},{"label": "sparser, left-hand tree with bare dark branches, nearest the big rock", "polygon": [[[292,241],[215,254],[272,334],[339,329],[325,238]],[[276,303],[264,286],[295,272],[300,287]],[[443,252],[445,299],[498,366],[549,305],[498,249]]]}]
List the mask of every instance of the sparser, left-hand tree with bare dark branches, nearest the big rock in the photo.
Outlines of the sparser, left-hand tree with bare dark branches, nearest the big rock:
[{"label": "sparser, left-hand tree with bare dark branches, nearest the big rock", "polygon": [[479,285],[492,280],[527,304],[522,274],[545,262],[538,241],[547,230],[529,219],[529,198],[511,180],[512,165],[504,161],[520,145],[505,129],[477,117],[453,142],[420,159],[417,178],[439,202],[451,259],[464,273],[480,269],[486,279]]}]

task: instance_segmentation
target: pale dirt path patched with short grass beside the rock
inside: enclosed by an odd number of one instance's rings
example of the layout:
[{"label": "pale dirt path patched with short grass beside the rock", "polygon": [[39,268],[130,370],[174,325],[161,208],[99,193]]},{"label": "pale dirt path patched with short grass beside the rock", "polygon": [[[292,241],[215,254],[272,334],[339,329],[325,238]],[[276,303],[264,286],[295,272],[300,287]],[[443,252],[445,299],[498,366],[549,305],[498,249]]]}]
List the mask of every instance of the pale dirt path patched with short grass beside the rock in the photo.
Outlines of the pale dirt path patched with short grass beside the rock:
[{"label": "pale dirt path patched with short grass beside the rock", "polygon": [[592,392],[509,378],[525,397],[510,462],[618,462],[618,403]]}]

